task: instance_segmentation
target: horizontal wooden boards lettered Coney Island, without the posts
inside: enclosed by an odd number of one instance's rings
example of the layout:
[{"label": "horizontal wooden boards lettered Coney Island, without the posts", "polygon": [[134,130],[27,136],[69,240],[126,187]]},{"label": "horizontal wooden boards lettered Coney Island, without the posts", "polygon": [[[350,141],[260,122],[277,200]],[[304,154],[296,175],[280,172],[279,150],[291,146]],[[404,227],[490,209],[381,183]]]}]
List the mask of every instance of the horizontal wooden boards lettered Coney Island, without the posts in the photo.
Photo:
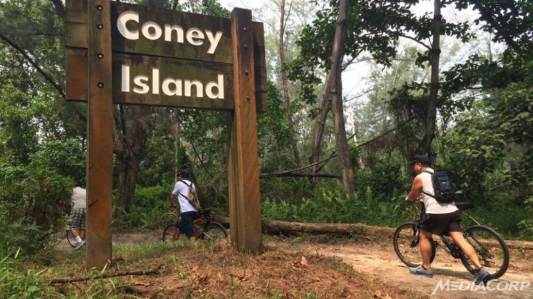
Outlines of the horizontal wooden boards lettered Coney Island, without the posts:
[{"label": "horizontal wooden boards lettered Coney Island, without the posts", "polygon": [[[66,100],[87,101],[87,1],[67,0]],[[231,20],[112,1],[115,104],[232,111]],[[253,22],[257,111],[267,111],[262,23]],[[154,77],[155,75],[155,77]],[[129,89],[127,88],[129,87]]]}]

